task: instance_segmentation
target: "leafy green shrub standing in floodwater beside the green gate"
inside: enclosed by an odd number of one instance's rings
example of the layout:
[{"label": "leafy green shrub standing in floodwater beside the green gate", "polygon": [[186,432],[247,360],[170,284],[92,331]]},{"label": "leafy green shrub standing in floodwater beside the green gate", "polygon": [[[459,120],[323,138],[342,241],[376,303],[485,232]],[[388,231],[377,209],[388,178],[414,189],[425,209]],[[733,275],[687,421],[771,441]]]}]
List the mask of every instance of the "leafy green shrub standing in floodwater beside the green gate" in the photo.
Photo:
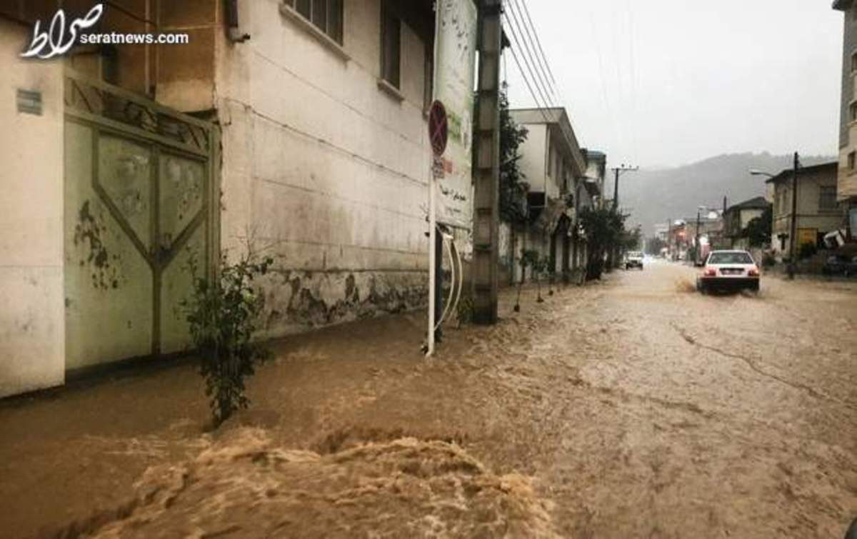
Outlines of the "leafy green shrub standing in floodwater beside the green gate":
[{"label": "leafy green shrub standing in floodwater beside the green gate", "polygon": [[268,356],[267,348],[253,341],[265,306],[253,281],[272,264],[273,259],[258,260],[252,254],[231,264],[224,255],[219,274],[211,277],[200,274],[195,259],[189,262],[193,287],[181,307],[201,356],[200,374],[206,380],[215,428],[236,410],[247,408],[244,379]]}]

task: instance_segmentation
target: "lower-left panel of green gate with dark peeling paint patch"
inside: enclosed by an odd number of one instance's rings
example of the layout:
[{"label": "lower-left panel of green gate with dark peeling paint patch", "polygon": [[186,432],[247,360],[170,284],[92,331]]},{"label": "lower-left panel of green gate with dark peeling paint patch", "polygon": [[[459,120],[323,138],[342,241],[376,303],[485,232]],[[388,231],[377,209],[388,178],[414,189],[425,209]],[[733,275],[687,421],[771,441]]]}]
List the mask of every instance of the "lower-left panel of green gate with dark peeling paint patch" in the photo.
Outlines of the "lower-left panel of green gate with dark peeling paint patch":
[{"label": "lower-left panel of green gate with dark peeling paint patch", "polygon": [[65,126],[66,368],[152,351],[152,271],[93,185],[96,129]]}]

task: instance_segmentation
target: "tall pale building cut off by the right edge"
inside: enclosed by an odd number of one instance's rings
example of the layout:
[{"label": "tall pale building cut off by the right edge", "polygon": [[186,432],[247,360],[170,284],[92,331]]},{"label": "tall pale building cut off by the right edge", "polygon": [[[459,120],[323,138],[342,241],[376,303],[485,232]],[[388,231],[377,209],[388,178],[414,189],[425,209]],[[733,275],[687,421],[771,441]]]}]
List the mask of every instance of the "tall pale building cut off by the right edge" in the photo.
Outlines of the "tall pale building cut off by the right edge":
[{"label": "tall pale building cut off by the right edge", "polygon": [[839,166],[836,200],[847,215],[847,235],[857,242],[857,3],[835,0],[833,9],[844,13],[842,45],[842,99],[839,117]]}]

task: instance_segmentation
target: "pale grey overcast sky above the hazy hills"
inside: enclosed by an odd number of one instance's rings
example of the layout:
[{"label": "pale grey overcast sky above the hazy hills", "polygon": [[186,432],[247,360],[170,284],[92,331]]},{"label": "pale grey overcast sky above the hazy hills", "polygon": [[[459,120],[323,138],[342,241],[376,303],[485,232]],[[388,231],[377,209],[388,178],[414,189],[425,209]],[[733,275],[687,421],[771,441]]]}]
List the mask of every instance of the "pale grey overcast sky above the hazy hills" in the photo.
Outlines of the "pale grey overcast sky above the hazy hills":
[{"label": "pale grey overcast sky above the hazy hills", "polygon": [[[838,153],[843,15],[830,0],[512,0],[512,33],[524,2],[557,103],[611,166]],[[508,54],[506,71],[512,106],[534,105]]]}]

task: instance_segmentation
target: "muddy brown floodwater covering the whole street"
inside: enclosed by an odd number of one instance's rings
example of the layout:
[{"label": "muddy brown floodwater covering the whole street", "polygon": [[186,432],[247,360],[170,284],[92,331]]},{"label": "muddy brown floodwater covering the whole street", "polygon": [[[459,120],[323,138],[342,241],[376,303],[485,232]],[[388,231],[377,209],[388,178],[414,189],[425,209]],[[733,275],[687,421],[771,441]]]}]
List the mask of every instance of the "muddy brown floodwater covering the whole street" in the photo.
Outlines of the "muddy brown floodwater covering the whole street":
[{"label": "muddy brown floodwater covering the whole street", "polygon": [[0,403],[0,536],[838,538],[857,286],[655,263],[446,333],[276,344],[217,432],[189,362]]}]

